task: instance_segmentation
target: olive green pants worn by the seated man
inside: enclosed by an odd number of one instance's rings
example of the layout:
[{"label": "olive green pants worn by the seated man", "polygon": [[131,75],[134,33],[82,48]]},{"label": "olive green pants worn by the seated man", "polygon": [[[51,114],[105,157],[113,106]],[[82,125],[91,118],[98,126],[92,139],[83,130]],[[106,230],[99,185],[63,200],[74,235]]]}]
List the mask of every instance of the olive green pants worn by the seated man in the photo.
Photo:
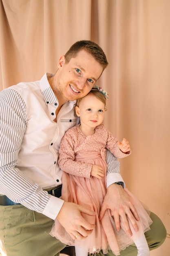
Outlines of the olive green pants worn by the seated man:
[{"label": "olive green pants worn by the seated man", "polygon": [[[145,234],[150,249],[155,249],[165,240],[166,229],[154,213],[150,217],[151,230]],[[53,223],[22,205],[0,206],[0,240],[7,256],[59,256],[65,245],[49,235]],[[97,254],[102,255],[102,252]],[[113,253],[105,255],[113,256]],[[125,255],[136,256],[136,247],[130,245],[121,251],[121,256]]]}]

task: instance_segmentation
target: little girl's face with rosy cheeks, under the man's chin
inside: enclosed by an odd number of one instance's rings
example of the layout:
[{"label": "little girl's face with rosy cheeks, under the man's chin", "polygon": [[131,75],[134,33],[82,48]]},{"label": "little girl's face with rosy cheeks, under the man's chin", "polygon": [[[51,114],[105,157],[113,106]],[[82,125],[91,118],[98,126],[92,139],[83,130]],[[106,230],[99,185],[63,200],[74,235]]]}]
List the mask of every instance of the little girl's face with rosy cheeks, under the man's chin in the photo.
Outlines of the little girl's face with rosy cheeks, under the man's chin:
[{"label": "little girl's face with rosy cheeks, under the man's chin", "polygon": [[102,124],[104,119],[105,105],[93,94],[88,94],[75,107],[75,112],[80,117],[81,126],[95,128]]}]

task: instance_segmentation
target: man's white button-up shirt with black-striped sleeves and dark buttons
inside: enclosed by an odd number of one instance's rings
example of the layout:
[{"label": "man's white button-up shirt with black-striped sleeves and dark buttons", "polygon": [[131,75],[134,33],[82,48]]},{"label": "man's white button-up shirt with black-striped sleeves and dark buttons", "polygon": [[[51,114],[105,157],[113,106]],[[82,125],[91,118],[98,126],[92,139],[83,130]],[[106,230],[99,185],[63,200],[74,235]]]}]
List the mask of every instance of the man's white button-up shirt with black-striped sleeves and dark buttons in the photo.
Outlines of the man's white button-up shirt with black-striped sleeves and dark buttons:
[{"label": "man's white button-up shirt with black-striped sleeves and dark buttons", "polygon": [[[52,219],[64,201],[42,189],[61,184],[58,150],[66,130],[79,122],[74,103],[65,103],[53,121],[58,101],[47,74],[0,93],[0,193]],[[107,186],[123,181],[116,161],[109,167]]]}]

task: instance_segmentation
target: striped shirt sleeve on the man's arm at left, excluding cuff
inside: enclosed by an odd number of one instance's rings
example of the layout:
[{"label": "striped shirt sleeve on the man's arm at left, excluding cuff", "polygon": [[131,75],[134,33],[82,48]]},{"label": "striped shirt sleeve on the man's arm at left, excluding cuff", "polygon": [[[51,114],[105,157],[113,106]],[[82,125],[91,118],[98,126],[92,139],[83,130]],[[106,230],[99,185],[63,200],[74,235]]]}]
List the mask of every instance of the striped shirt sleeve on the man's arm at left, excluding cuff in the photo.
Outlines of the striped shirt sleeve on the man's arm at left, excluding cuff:
[{"label": "striped shirt sleeve on the man's arm at left, excluding cuff", "polygon": [[51,195],[17,168],[26,122],[26,106],[20,94],[11,88],[0,92],[0,193],[42,213]]}]

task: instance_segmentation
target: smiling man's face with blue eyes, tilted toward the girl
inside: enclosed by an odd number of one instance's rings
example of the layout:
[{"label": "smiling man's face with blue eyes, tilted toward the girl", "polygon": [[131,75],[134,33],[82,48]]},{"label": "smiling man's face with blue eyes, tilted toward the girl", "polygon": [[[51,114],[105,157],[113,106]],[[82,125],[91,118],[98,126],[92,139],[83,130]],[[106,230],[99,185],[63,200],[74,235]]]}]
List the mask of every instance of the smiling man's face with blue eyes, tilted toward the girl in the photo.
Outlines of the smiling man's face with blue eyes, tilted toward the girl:
[{"label": "smiling man's face with blue eyes, tilted toward the girl", "polygon": [[58,67],[57,90],[67,101],[84,97],[95,86],[103,71],[102,65],[85,50],[79,51],[68,63],[62,56]]}]

